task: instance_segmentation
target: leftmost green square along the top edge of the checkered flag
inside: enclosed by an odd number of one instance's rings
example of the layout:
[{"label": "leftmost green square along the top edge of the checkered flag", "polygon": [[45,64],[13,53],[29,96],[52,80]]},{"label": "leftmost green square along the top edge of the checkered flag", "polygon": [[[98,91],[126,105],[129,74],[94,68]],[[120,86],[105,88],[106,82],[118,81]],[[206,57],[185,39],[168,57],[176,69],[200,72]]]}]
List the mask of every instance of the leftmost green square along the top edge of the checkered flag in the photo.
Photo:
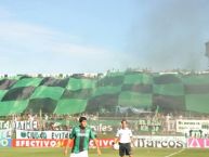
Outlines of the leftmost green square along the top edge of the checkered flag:
[{"label": "leftmost green square along the top edge of the checkered flag", "polygon": [[42,78],[24,78],[18,80],[12,88],[21,88],[21,87],[38,87]]}]

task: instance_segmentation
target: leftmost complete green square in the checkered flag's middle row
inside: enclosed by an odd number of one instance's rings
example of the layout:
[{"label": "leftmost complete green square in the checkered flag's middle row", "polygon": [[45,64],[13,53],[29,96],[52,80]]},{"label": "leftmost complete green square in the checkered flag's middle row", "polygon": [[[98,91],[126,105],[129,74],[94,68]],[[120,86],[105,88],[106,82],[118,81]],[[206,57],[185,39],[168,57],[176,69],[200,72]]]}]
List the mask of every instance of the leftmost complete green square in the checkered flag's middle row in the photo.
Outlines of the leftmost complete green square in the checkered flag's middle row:
[{"label": "leftmost complete green square in the checkered flag's middle row", "polygon": [[52,100],[60,100],[64,92],[63,88],[60,87],[38,87],[36,88],[31,99],[45,99],[50,97]]}]

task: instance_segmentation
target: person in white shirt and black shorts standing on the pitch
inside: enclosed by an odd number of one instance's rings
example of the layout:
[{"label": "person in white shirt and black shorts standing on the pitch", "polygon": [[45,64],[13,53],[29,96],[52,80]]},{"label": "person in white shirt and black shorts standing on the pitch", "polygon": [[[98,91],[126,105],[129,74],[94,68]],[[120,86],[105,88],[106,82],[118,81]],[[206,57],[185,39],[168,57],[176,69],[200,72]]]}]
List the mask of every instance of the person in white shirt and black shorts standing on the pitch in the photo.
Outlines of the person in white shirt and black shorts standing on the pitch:
[{"label": "person in white shirt and black shorts standing on the pitch", "polygon": [[125,157],[126,155],[132,157],[131,143],[132,143],[132,131],[127,126],[127,120],[121,120],[121,128],[116,133],[116,139],[113,144],[119,142],[119,156]]}]

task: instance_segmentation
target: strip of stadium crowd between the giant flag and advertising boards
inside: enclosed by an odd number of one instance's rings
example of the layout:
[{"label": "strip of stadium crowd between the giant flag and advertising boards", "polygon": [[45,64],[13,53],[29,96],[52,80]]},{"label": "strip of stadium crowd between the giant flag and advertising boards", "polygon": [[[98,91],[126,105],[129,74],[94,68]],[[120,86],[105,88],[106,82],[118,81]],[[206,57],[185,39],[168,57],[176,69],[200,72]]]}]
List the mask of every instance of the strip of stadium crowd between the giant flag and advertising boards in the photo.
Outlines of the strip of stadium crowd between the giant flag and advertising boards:
[{"label": "strip of stadium crowd between the giant flag and advertising boards", "polygon": [[[99,126],[104,128],[95,128],[97,134],[113,134],[118,128],[121,118],[128,119],[129,127],[136,135],[182,135],[182,132],[177,131],[177,120],[209,120],[209,116],[182,116],[160,113],[142,114],[140,116],[133,117],[99,117],[99,115],[81,114],[81,115],[55,115],[55,114],[23,114],[23,115],[12,115],[6,117],[1,117],[0,120],[4,121],[37,121],[38,127],[30,131],[70,131],[73,126],[78,123],[80,116],[86,116],[89,120],[90,126]],[[110,126],[105,126],[104,123],[110,123]],[[102,126],[103,125],[103,126]],[[110,127],[106,131],[107,127]],[[205,129],[209,130],[209,123],[205,125]],[[204,132],[201,130],[188,130],[184,132],[185,136],[192,138],[209,138],[209,131]]]}]

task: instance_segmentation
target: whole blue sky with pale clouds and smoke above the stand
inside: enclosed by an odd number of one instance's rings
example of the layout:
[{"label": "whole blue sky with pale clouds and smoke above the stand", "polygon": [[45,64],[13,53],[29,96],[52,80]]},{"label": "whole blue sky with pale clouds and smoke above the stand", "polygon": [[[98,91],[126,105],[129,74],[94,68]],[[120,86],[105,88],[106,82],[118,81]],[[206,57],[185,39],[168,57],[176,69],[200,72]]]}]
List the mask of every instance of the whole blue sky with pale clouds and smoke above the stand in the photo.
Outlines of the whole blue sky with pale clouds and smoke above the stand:
[{"label": "whole blue sky with pale clouds and smoke above the stand", "polygon": [[0,74],[209,67],[208,0],[0,0]]}]

